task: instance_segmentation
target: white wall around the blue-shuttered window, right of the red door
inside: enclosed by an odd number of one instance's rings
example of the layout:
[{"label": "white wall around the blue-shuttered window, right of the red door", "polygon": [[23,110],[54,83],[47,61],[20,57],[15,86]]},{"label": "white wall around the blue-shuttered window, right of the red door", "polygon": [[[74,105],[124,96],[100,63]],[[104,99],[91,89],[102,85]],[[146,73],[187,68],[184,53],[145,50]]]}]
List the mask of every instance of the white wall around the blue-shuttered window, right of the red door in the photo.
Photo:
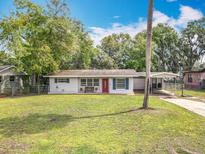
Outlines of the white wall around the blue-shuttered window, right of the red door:
[{"label": "white wall around the blue-shuttered window, right of the red door", "polygon": [[[117,79],[117,77],[115,79]],[[132,94],[133,78],[129,78],[129,89],[113,89],[113,78],[109,78],[109,93],[110,94]]]}]

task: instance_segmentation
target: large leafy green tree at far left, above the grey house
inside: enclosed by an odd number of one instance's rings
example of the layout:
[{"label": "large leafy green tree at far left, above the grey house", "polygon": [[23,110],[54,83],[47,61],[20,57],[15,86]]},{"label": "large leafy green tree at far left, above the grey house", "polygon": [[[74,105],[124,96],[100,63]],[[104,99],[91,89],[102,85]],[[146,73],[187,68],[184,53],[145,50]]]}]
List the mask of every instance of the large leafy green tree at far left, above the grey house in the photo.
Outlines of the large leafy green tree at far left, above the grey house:
[{"label": "large leafy green tree at far left, above the grey house", "polygon": [[16,11],[0,23],[0,39],[19,71],[40,75],[57,69],[51,49],[45,42],[47,17],[38,5],[15,0]]}]

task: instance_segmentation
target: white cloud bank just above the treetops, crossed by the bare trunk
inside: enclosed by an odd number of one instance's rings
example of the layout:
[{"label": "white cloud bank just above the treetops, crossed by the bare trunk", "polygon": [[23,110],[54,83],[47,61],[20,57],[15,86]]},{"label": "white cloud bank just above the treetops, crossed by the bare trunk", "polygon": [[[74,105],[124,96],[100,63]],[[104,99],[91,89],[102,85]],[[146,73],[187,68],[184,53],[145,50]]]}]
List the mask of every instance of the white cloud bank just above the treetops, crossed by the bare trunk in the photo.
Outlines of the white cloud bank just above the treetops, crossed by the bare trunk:
[{"label": "white cloud bank just above the treetops, crossed by the bare trunk", "polygon": [[[171,27],[175,28],[177,31],[186,27],[187,22],[198,20],[203,17],[201,11],[193,9],[189,6],[180,6],[180,15],[178,18],[169,17],[168,15],[155,10],[153,14],[153,26],[156,26],[158,23],[167,23]],[[113,33],[128,33],[132,37],[137,33],[146,30],[147,21],[145,18],[139,18],[136,23],[123,25],[120,23],[112,23],[112,26],[109,28],[101,27],[90,27],[91,33],[90,36],[94,40],[95,45],[100,43],[100,40],[108,35]]]}]

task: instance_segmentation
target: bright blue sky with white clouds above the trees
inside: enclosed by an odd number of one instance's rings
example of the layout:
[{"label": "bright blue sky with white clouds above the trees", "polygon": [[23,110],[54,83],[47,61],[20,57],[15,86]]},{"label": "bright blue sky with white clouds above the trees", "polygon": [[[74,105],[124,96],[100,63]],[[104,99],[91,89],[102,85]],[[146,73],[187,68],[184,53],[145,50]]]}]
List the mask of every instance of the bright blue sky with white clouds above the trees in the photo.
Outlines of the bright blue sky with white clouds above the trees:
[{"label": "bright blue sky with white clouds above the trees", "polygon": [[[45,5],[46,0],[32,0]],[[146,28],[148,0],[67,0],[71,16],[82,21],[95,44],[112,33],[134,36]],[[14,9],[12,0],[0,0],[0,16]],[[168,23],[176,30],[205,14],[205,0],[155,0],[154,25]]]}]

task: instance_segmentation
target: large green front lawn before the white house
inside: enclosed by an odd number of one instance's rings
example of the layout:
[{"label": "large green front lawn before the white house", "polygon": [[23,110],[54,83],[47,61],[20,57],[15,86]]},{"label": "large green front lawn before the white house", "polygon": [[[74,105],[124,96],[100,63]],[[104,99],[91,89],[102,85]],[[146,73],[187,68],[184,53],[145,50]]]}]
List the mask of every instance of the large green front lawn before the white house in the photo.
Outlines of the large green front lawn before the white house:
[{"label": "large green front lawn before the white house", "polygon": [[205,152],[205,118],[151,97],[45,95],[0,100],[0,153]]}]

